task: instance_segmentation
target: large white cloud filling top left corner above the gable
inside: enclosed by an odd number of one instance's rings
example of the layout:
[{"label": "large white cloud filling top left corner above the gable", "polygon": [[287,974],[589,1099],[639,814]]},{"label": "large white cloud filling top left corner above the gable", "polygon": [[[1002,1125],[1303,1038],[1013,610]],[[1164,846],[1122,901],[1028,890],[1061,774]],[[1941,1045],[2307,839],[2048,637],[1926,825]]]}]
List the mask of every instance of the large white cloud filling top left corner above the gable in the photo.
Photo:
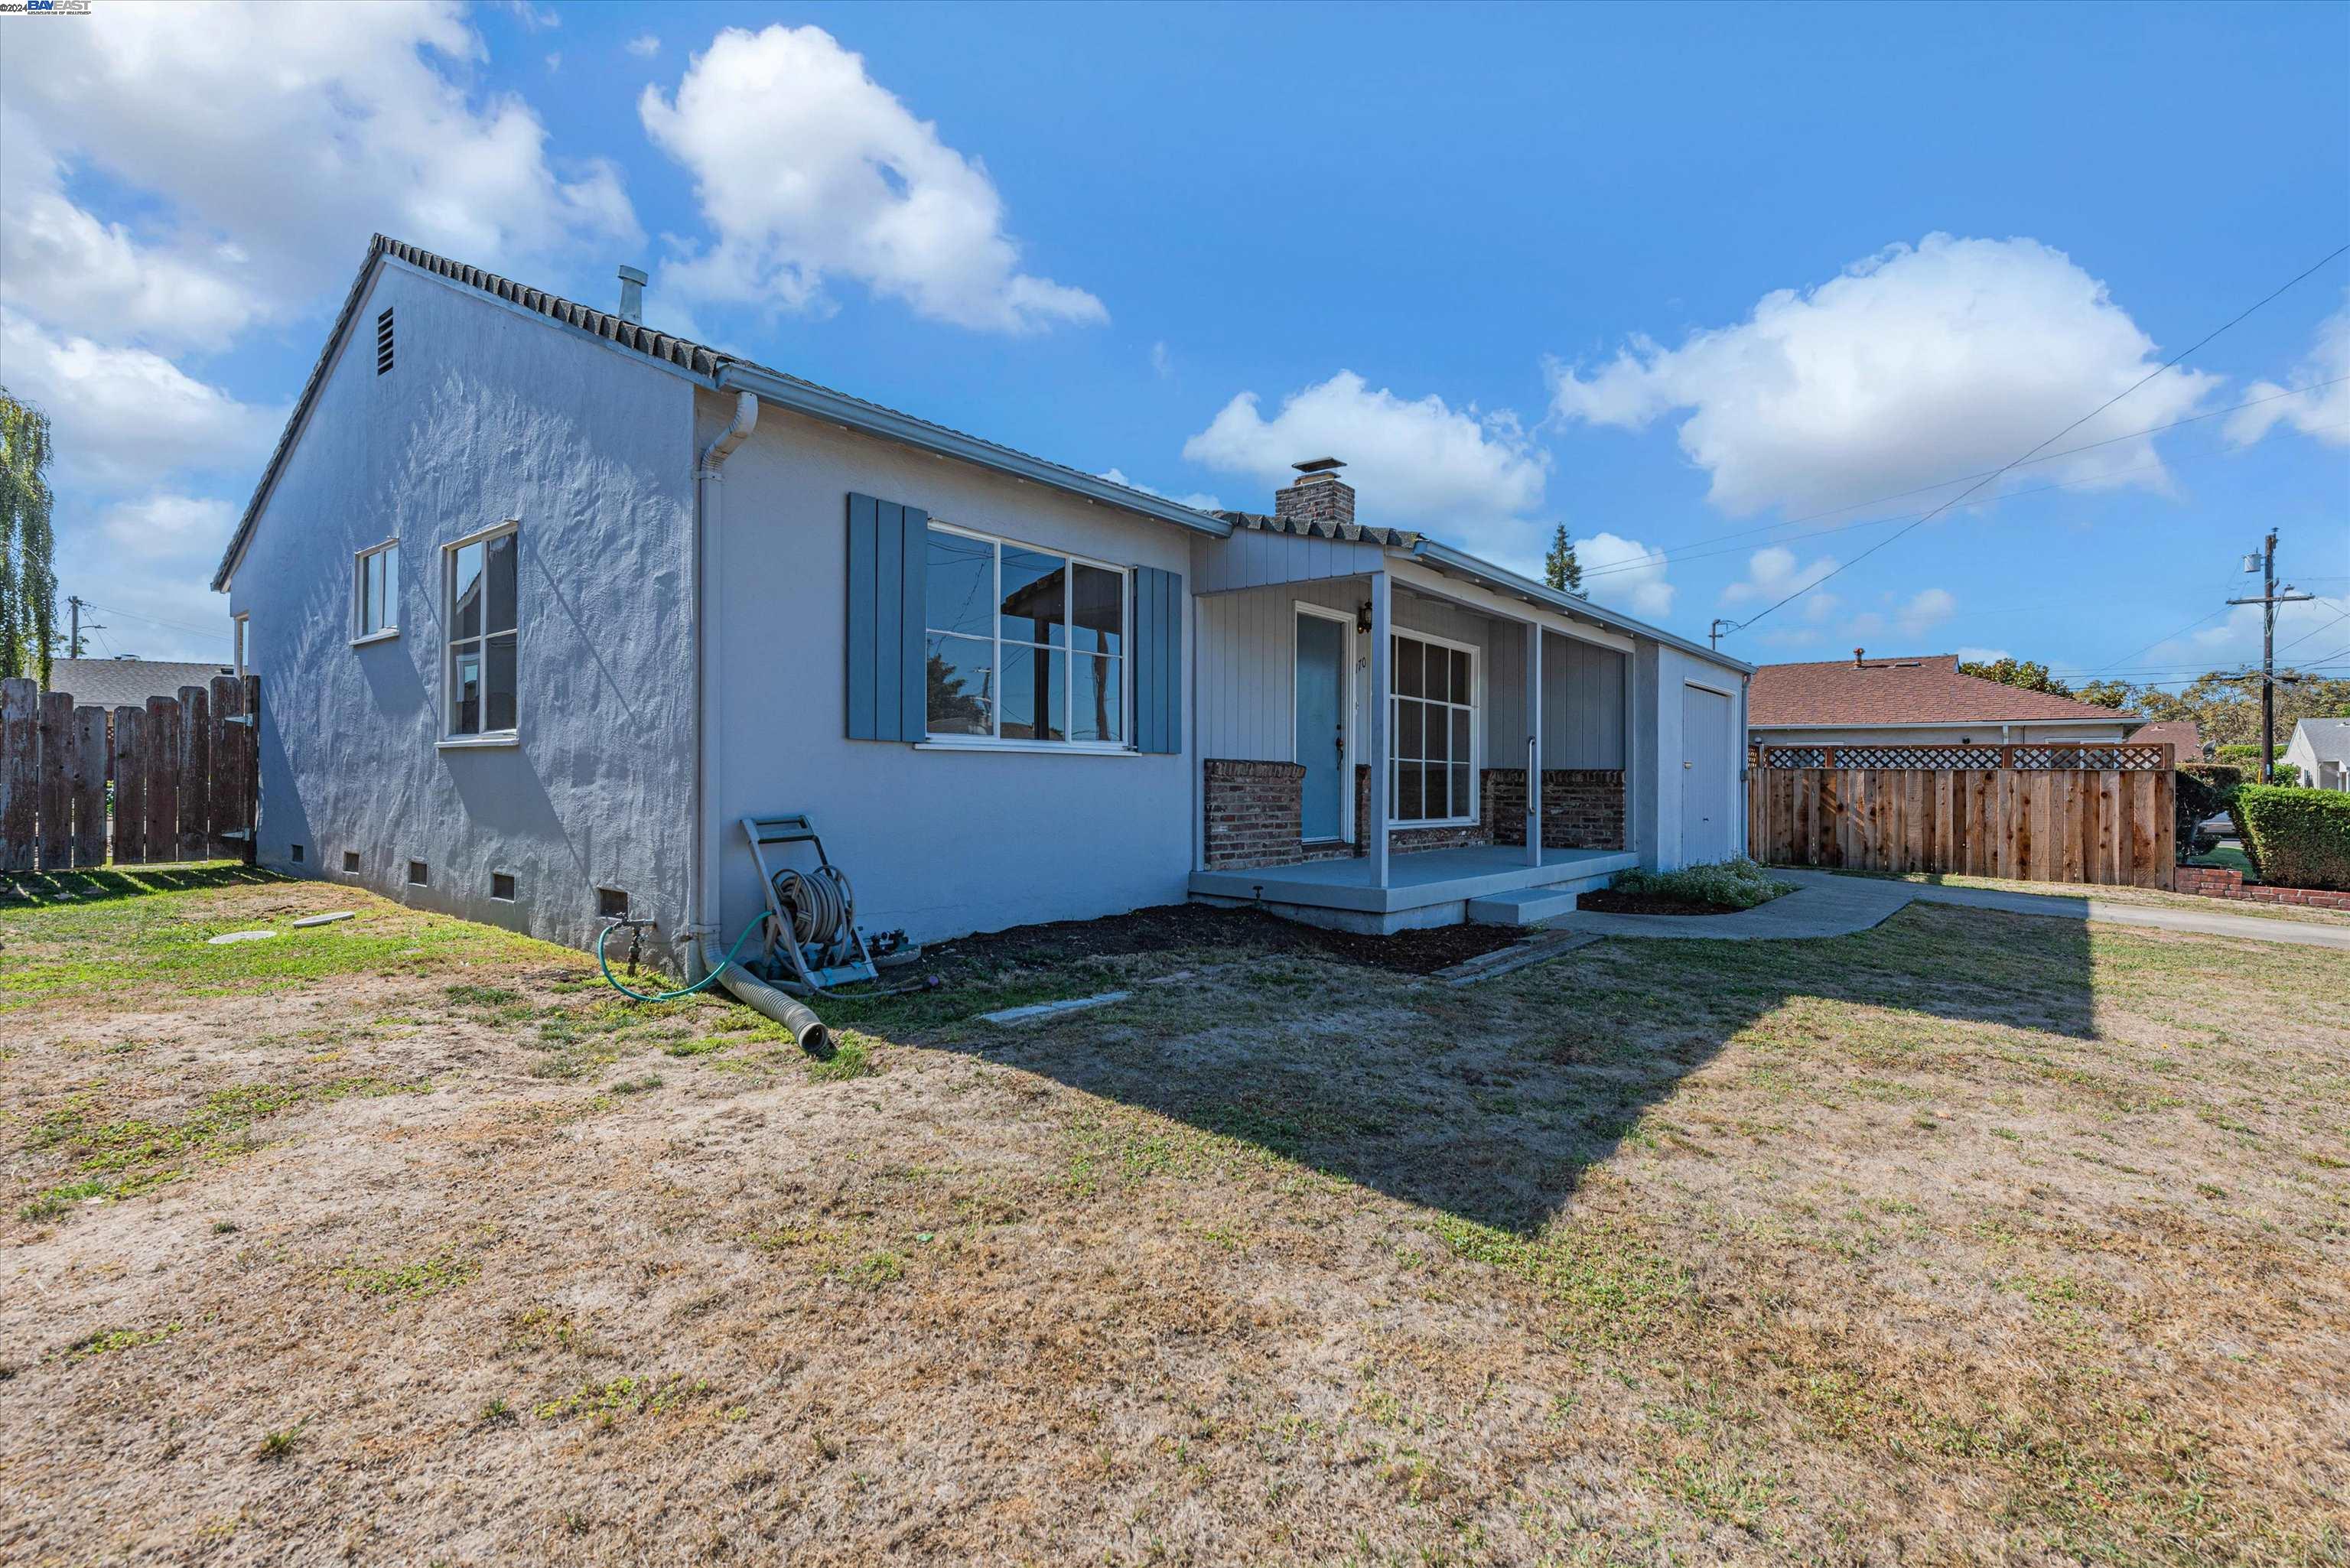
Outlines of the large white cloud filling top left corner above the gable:
[{"label": "large white cloud filling top left corner above the gable", "polygon": [[[642,240],[613,165],[557,169],[522,99],[465,92],[454,5],[103,9],[0,54],[0,287],[52,327],[214,346],[310,310],[376,228],[496,268]],[[155,216],[96,221],[82,169]]]}]

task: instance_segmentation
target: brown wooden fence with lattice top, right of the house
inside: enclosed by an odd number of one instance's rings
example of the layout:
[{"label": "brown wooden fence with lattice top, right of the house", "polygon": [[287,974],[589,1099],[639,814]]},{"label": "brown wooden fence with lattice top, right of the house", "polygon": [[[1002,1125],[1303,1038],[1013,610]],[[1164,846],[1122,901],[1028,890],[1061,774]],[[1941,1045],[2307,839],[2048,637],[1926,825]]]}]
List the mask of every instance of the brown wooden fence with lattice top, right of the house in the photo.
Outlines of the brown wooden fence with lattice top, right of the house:
[{"label": "brown wooden fence with lattice top, right of the house", "polygon": [[1770,865],[2171,884],[2169,745],[1767,745],[1746,842]]}]

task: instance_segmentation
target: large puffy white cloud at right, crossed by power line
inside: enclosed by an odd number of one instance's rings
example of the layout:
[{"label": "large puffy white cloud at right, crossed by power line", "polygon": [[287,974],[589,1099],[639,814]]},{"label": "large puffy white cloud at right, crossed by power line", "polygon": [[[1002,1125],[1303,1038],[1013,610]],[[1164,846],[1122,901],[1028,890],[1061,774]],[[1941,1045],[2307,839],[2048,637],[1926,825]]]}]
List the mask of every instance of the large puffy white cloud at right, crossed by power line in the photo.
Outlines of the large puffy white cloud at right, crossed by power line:
[{"label": "large puffy white cloud at right, crossed by power line", "polygon": [[[1553,364],[1551,411],[1640,430],[1687,409],[1680,449],[1711,475],[1718,508],[1795,515],[2000,468],[2155,364],[2153,339],[2063,252],[1936,233],[1817,289],[1765,294],[1748,320],[1680,348],[1636,339],[1589,374]],[[2181,418],[2216,381],[2164,371],[2059,447]],[[2028,475],[2167,482],[2150,437]]]}]

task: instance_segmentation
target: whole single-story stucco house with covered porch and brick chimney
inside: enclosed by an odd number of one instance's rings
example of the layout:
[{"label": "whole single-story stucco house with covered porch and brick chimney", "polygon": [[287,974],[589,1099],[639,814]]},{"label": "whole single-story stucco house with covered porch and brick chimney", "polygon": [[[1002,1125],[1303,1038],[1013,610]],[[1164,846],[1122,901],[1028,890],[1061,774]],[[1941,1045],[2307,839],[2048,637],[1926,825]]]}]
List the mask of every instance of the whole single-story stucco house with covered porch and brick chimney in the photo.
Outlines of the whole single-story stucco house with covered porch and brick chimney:
[{"label": "whole single-story stucco house with covered porch and brick chimney", "polygon": [[1335,461],[1201,512],[651,331],[623,282],[369,247],[214,578],[261,863],[573,945],[625,905],[691,969],[764,907],[750,816],[811,813],[914,940],[1187,896],[1525,919],[1744,849],[1748,665],[1356,527]]}]

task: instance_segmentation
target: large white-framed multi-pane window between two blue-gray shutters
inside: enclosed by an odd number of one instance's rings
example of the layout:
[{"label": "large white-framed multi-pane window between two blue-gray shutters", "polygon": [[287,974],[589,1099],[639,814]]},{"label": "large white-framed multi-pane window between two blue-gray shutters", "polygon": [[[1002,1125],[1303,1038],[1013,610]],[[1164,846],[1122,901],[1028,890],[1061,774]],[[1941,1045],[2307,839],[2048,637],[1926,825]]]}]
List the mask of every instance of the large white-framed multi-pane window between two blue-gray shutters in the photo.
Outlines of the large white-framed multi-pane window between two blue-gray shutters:
[{"label": "large white-framed multi-pane window between two blue-gray shutters", "polygon": [[931,738],[1123,748],[1128,581],[1121,567],[933,522]]}]

